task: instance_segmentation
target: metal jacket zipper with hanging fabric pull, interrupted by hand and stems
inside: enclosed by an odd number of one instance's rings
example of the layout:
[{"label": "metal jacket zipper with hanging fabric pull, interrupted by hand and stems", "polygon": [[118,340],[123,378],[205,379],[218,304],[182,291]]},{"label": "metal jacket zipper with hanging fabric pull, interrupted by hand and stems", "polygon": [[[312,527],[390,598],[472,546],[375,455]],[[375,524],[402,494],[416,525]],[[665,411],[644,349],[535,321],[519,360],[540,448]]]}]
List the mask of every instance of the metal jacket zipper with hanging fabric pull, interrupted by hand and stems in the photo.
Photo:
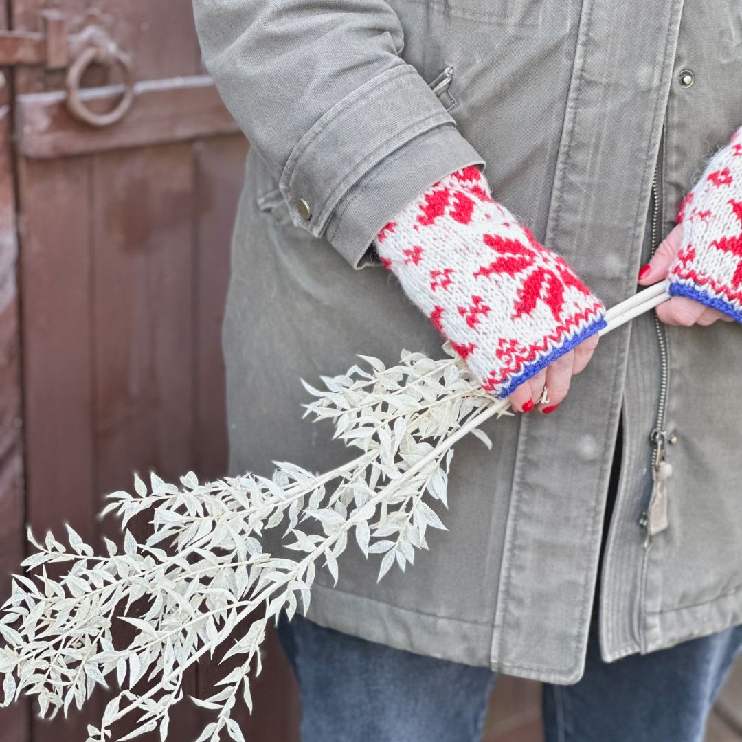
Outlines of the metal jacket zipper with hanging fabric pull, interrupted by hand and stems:
[{"label": "metal jacket zipper with hanging fabric pull, interrupted by hand and stems", "polygon": [[[660,152],[662,151],[665,137],[665,125],[660,136]],[[651,255],[657,252],[660,245],[660,226],[662,219],[662,203],[660,201],[659,180],[660,158],[654,167],[654,177],[651,185],[651,233],[650,245]],[[672,473],[672,467],[666,462],[666,449],[668,436],[665,430],[665,413],[667,407],[667,394],[669,389],[669,354],[667,347],[667,330],[654,312],[654,331],[657,334],[657,344],[660,349],[660,398],[657,402],[657,414],[654,418],[654,428],[649,433],[649,442],[652,447],[652,487],[651,498],[646,510],[643,510],[639,523],[646,529],[645,546],[649,545],[651,536],[659,533],[667,527],[667,500],[665,491],[666,479]],[[661,491],[660,491],[661,490]]]}]

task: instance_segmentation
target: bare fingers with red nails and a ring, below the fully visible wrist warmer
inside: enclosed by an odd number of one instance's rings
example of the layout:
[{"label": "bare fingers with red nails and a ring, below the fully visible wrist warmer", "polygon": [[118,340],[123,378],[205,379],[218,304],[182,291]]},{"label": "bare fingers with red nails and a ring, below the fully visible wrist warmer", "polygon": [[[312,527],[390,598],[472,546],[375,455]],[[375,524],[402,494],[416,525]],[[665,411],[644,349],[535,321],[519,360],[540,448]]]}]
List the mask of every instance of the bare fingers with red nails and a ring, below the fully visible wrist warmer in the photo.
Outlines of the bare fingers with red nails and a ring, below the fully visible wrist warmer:
[{"label": "bare fingers with red nails and a ring, below the fully visible wrist warmer", "polygon": [[[572,377],[580,373],[593,357],[598,344],[598,336],[591,335],[574,350],[552,361],[551,364],[525,381],[508,397],[515,410],[529,413],[536,407],[539,412],[550,414],[567,396]],[[539,403],[546,387],[548,399]]]}]

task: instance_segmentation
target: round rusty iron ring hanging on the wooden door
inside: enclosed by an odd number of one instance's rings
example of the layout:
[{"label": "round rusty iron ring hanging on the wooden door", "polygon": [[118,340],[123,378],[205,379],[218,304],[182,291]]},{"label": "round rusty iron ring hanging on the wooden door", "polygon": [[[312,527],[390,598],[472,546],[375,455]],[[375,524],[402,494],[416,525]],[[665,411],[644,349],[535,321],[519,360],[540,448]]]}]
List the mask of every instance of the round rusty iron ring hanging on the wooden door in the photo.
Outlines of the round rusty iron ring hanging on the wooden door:
[{"label": "round rusty iron ring hanging on the wooden door", "polygon": [[[113,111],[107,114],[98,114],[91,111],[80,96],[80,84],[85,70],[99,62],[108,66],[118,65],[124,73],[124,94]],[[134,65],[130,57],[119,49],[105,49],[102,47],[88,47],[83,50],[77,59],[70,65],[67,73],[67,108],[78,121],[103,128],[119,122],[134,103]]]}]

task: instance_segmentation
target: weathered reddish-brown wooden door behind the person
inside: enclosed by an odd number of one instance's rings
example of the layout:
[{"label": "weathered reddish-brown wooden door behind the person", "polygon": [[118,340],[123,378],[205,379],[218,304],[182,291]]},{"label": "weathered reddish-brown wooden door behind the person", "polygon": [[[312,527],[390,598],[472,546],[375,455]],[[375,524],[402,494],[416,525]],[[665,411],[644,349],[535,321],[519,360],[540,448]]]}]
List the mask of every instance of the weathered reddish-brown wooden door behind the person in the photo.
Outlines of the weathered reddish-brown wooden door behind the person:
[{"label": "weathered reddish-brown wooden door behind the person", "polygon": [[[41,28],[45,0],[8,5],[5,28]],[[96,543],[111,531],[96,521],[102,495],[130,489],[134,471],[177,481],[189,469],[223,476],[227,466],[220,328],[247,143],[203,72],[189,0],[57,0],[54,8],[73,42],[68,64],[5,68],[0,91],[5,591],[25,519],[37,532],[67,520]],[[121,64],[79,62],[101,46],[120,52]],[[128,89],[127,59],[134,102],[119,121],[91,125],[70,114],[73,65],[94,117]],[[267,649],[255,715],[240,723],[252,739],[291,742],[295,693],[275,640]],[[191,694],[208,691],[209,668],[188,682]],[[188,742],[203,719],[193,704],[182,707],[171,737]],[[100,709],[97,701],[51,723],[33,708],[7,709],[0,740],[83,741]]]}]

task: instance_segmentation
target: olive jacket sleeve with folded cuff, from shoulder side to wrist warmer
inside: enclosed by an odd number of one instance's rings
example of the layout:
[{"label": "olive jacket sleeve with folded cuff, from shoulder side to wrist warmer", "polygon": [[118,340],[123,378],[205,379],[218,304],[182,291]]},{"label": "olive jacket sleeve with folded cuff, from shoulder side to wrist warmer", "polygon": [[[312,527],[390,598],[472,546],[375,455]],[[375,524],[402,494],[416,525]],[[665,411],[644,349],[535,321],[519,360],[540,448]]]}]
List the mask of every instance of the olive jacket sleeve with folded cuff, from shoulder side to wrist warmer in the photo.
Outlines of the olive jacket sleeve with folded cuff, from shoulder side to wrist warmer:
[{"label": "olive jacket sleeve with folded cuff, from shoulder side to wrist warmer", "polygon": [[399,56],[404,33],[383,0],[193,4],[204,64],[293,222],[353,267],[419,193],[466,165],[484,167]]}]

